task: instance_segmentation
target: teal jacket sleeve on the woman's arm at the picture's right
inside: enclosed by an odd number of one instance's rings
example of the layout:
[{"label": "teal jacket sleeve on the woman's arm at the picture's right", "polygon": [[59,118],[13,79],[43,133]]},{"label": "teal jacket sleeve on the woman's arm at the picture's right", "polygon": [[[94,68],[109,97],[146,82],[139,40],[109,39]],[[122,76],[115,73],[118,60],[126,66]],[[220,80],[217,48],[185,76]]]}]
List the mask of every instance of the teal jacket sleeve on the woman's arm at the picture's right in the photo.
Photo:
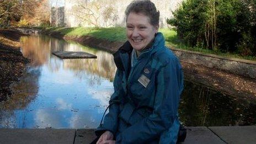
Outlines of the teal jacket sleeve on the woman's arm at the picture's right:
[{"label": "teal jacket sleeve on the woman's arm at the picture's right", "polygon": [[183,90],[183,72],[174,58],[157,74],[156,101],[153,113],[130,126],[116,137],[116,143],[145,143],[159,137],[177,119],[180,94]]}]

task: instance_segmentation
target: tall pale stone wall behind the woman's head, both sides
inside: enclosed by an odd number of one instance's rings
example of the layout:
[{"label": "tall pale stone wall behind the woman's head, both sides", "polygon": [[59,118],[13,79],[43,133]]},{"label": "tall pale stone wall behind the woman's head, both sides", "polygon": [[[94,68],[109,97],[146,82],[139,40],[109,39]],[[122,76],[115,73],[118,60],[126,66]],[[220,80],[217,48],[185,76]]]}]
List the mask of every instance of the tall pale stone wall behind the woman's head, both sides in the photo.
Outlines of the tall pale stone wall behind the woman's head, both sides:
[{"label": "tall pale stone wall behind the woman's head, both sides", "polygon": [[[125,9],[132,0],[65,0],[65,26],[124,26]],[[159,23],[167,27],[166,20],[172,17],[183,0],[151,0],[160,12]],[[111,10],[111,12],[109,11]],[[108,13],[108,14],[106,14]],[[58,17],[53,14],[52,16]],[[88,18],[87,18],[88,17]],[[55,18],[53,18],[55,20]],[[60,19],[61,20],[61,19]],[[97,21],[97,22],[96,22]],[[54,21],[56,23],[56,21]],[[57,22],[56,25],[62,22]]]}]

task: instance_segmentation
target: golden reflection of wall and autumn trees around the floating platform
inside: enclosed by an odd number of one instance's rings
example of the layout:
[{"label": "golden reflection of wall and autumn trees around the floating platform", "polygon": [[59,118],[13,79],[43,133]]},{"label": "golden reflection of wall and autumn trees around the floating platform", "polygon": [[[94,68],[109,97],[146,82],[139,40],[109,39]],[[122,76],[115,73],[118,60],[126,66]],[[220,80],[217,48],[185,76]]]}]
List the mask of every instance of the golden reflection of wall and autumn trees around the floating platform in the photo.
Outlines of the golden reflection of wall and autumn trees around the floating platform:
[{"label": "golden reflection of wall and autumn trees around the floating platform", "polygon": [[[42,66],[50,61],[50,65],[48,65],[50,70],[57,71],[60,63],[63,62],[63,67],[66,70],[72,70],[77,73],[88,71],[108,79],[113,79],[114,77],[116,67],[113,56],[108,52],[98,51],[79,44],[67,43],[49,36],[23,37],[22,42],[23,55],[31,59],[31,65],[33,66]],[[97,55],[97,61],[93,59],[59,61],[59,58],[51,55],[53,51],[85,51]]]}]

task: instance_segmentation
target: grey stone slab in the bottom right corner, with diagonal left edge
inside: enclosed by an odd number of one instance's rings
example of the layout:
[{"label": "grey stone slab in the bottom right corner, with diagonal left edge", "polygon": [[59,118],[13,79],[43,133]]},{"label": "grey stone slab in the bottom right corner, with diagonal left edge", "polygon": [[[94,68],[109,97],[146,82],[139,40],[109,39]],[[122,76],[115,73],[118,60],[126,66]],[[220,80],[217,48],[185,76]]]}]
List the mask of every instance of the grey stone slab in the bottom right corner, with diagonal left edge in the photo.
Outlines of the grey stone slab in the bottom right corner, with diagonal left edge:
[{"label": "grey stone slab in the bottom right corner, with diagonal left edge", "polygon": [[227,143],[256,143],[256,126],[213,126],[209,129]]}]

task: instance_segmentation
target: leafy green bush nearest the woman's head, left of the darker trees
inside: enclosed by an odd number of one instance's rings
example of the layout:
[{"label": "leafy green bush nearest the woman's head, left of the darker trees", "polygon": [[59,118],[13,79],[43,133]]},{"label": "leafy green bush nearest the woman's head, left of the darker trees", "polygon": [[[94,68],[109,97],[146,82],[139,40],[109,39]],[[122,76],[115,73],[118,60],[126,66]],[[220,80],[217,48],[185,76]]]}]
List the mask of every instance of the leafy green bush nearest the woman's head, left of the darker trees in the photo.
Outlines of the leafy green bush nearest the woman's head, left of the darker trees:
[{"label": "leafy green bush nearest the woman's head, left of the darker trees", "polygon": [[195,46],[197,40],[204,33],[207,15],[207,0],[188,0],[173,13],[175,19],[169,19],[168,23],[177,26],[178,36],[187,45]]}]

